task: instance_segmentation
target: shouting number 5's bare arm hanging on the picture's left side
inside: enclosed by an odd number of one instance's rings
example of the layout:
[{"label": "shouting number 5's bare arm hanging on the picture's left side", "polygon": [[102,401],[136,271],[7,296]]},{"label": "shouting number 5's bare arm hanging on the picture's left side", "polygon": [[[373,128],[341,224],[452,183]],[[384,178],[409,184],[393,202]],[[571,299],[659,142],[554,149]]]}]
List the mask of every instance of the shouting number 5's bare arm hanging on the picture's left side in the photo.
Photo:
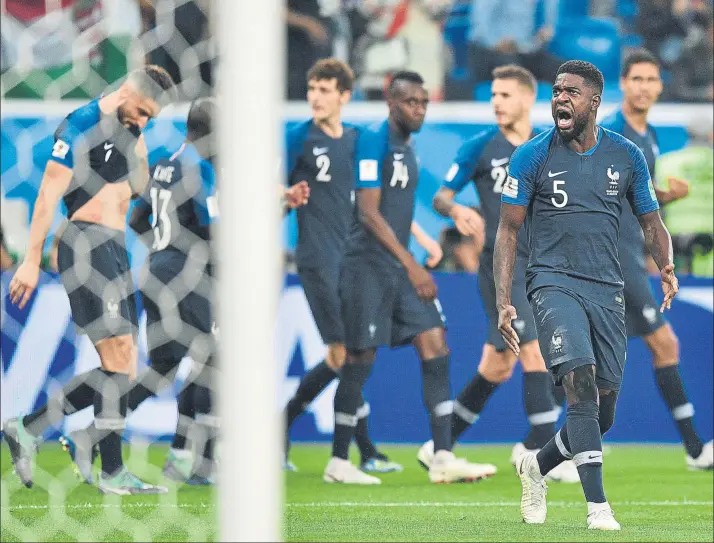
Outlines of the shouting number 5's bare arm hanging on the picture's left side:
[{"label": "shouting number 5's bare arm hanging on the picture's left side", "polygon": [[501,218],[496,232],[493,254],[493,274],[496,281],[496,306],[498,308],[498,329],[503,341],[516,355],[520,352],[518,334],[511,327],[511,321],[518,317],[511,305],[513,267],[516,262],[518,231],[526,218],[527,208],[513,204],[501,204]]}]

